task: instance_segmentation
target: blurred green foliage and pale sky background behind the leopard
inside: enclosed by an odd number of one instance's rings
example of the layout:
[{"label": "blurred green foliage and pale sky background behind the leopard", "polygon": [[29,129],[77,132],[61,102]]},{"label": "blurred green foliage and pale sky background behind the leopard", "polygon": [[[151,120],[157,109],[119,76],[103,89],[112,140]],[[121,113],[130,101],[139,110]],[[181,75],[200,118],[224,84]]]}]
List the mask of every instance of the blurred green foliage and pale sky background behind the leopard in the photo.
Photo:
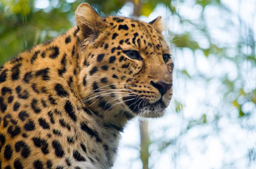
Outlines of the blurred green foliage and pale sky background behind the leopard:
[{"label": "blurred green foliage and pale sky background behind the leopard", "polygon": [[114,169],[256,169],[256,0],[0,0],[0,65],[101,16],[161,15],[175,62],[160,119],[131,121]]}]

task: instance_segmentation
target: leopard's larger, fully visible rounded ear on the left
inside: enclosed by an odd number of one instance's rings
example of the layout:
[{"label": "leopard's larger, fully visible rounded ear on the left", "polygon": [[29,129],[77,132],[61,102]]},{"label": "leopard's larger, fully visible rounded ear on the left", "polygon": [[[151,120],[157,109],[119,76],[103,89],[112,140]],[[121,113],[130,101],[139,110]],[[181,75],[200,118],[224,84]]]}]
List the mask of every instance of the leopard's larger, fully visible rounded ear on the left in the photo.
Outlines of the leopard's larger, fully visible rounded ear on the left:
[{"label": "leopard's larger, fully visible rounded ear on the left", "polygon": [[107,27],[99,14],[88,3],[81,3],[76,9],[76,24],[82,30],[84,39],[91,37],[93,40]]}]

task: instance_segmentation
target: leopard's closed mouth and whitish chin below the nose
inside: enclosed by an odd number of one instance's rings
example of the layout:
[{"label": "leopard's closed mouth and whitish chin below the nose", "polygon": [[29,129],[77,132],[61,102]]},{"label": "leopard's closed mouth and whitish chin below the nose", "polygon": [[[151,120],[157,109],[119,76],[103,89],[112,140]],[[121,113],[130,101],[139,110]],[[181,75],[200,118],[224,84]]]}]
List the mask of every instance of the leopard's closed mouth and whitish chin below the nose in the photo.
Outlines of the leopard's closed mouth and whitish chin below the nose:
[{"label": "leopard's closed mouth and whitish chin below the nose", "polygon": [[124,98],[125,104],[135,114],[143,117],[160,117],[163,115],[164,109],[167,107],[162,99],[154,102],[147,103],[147,99],[140,99],[137,97]]}]

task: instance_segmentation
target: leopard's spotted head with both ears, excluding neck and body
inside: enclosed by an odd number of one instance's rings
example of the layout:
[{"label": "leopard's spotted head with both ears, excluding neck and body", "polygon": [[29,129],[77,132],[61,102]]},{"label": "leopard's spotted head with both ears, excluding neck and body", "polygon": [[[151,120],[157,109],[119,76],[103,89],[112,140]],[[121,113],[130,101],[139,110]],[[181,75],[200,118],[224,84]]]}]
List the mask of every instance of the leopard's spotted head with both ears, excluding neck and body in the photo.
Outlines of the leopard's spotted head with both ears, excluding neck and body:
[{"label": "leopard's spotted head with both ears, excluding neck and body", "polygon": [[161,17],[150,23],[100,18],[82,4],[76,22],[81,34],[91,32],[81,42],[85,102],[105,114],[163,116],[172,98],[174,65],[161,35]]}]

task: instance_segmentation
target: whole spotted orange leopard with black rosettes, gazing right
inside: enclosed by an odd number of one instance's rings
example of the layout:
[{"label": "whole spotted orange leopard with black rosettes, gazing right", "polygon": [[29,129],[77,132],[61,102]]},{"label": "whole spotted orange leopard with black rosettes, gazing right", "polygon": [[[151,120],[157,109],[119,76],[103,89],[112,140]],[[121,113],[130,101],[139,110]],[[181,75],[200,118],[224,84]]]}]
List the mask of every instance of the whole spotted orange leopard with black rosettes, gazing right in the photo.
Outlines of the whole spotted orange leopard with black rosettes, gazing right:
[{"label": "whole spotted orange leopard with black rosettes, gazing right", "polygon": [[163,117],[174,63],[161,17],[101,17],[0,68],[0,169],[111,169],[127,123]]}]

